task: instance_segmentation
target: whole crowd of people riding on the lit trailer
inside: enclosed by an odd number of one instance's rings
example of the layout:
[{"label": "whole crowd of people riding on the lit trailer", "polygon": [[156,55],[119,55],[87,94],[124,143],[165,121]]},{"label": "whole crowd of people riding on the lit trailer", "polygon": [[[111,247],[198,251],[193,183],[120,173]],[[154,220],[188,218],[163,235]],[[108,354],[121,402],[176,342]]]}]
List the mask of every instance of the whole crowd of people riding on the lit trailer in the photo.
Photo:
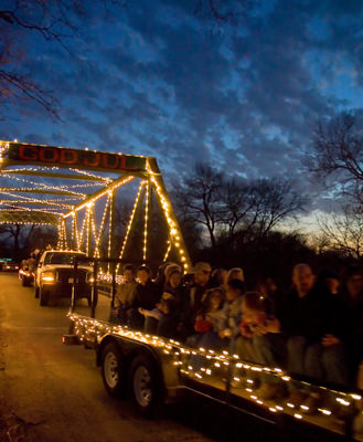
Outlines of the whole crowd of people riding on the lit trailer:
[{"label": "whole crowd of people riding on the lit trailer", "polygon": [[[152,280],[142,265],[124,269],[114,318],[131,328],[177,339],[189,347],[228,350],[243,360],[280,367],[319,382],[355,387],[363,359],[363,271],[314,275],[295,265],[291,288],[282,293],[271,277],[246,291],[242,269],[195,264],[192,274],[164,264]],[[280,385],[261,382],[259,397],[273,399]],[[288,400],[313,409],[319,394],[295,389]]]}]

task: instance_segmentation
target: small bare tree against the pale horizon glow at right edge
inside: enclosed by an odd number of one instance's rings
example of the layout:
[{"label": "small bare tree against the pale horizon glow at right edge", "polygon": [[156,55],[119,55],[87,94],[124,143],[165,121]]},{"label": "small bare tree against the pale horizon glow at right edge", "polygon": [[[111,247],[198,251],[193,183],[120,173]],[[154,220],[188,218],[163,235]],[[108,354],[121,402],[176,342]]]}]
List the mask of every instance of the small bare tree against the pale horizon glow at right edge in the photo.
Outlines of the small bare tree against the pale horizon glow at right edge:
[{"label": "small bare tree against the pale horizon glow at right edge", "polygon": [[360,206],[345,206],[341,213],[320,218],[320,231],[329,249],[346,256],[359,259],[363,255],[363,213]]}]

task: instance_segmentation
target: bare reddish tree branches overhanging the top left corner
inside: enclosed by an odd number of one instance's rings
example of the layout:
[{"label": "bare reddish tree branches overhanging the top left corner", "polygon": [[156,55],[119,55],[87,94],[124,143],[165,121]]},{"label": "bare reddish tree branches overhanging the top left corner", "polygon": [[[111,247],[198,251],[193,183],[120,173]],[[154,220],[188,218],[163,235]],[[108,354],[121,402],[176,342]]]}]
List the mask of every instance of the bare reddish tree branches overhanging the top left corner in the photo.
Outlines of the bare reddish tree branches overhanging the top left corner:
[{"label": "bare reddish tree branches overhanging the top left corner", "polygon": [[[0,103],[38,103],[51,116],[58,117],[58,103],[51,91],[22,71],[28,35],[39,34],[50,43],[71,52],[70,38],[81,34],[90,15],[107,12],[108,4],[121,6],[122,0],[6,0],[0,7]],[[98,3],[98,4],[95,4]],[[96,8],[95,8],[96,7]],[[2,114],[4,115],[4,114]]]}]

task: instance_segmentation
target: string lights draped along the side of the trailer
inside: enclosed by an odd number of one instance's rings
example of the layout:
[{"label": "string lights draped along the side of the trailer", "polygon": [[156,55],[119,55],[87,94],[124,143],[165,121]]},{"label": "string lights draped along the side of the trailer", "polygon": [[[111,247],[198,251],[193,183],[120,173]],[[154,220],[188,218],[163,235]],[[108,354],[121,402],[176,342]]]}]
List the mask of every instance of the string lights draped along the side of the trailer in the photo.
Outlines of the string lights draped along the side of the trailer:
[{"label": "string lights draped along the side of the trailer", "polygon": [[[104,275],[108,282],[110,282],[110,275]],[[109,280],[110,277],[110,280]],[[189,348],[173,339],[163,338],[159,336],[153,336],[149,334],[145,334],[141,332],[132,330],[127,326],[122,325],[111,325],[106,322],[97,320],[94,318],[81,316],[78,314],[70,313],[68,318],[72,320],[74,327],[74,334],[79,339],[79,341],[93,341],[100,344],[102,339],[106,335],[125,337],[128,340],[135,340],[137,343],[142,343],[151,346],[156,351],[160,351],[162,355],[162,364],[169,367],[174,367],[175,370],[180,371],[188,377],[194,378],[199,382],[210,385],[212,381],[212,386],[220,389],[225,389],[226,376],[227,372],[233,373],[233,381],[236,382],[237,387],[232,385],[232,390],[238,388],[238,392],[236,394],[248,399],[249,401],[255,402],[259,407],[265,410],[277,414],[285,413],[289,414],[298,420],[308,420],[309,417],[303,415],[302,412],[297,411],[297,407],[293,403],[287,403],[287,407],[281,407],[279,402],[275,402],[271,400],[264,400],[258,396],[258,391],[253,390],[253,385],[250,382],[249,387],[243,387],[243,379],[246,376],[246,372],[268,372],[269,376],[274,377],[276,380],[281,382],[290,382],[292,381],[291,377],[285,373],[281,369],[276,369],[271,367],[261,367],[255,366],[252,364],[246,364],[237,355],[231,355],[226,352],[218,352],[213,350],[207,350],[205,348],[192,349]],[[199,357],[199,362],[194,364],[191,357]],[[231,368],[229,368],[231,367]],[[170,368],[169,368],[170,369]],[[228,371],[226,371],[228,370]],[[284,379],[282,379],[284,377]],[[295,380],[295,382],[297,382]],[[335,397],[335,400],[342,408],[346,409],[346,407],[354,406],[355,409],[351,409],[351,415],[354,415],[357,410],[361,408],[362,397],[356,393],[345,393],[342,391],[331,390],[325,387],[312,386],[308,382],[302,382],[305,388],[311,388],[316,391],[317,388],[323,389],[327,393],[329,392],[332,397]],[[257,385],[258,386],[258,385]],[[256,386],[256,387],[257,387]],[[354,399],[356,402],[351,402],[349,398]],[[279,399],[277,399],[279,401]],[[303,410],[303,409],[302,409]],[[325,419],[324,421],[314,420],[314,424],[320,424],[325,429],[330,429],[332,431],[337,430],[337,419],[334,417],[334,412],[332,410],[325,408],[319,408],[319,413]],[[339,410],[337,409],[337,413],[339,415]],[[330,419],[333,419],[329,421]],[[311,422],[311,421],[309,421]],[[329,422],[332,422],[330,425]],[[344,424],[344,422],[343,422]]]}]

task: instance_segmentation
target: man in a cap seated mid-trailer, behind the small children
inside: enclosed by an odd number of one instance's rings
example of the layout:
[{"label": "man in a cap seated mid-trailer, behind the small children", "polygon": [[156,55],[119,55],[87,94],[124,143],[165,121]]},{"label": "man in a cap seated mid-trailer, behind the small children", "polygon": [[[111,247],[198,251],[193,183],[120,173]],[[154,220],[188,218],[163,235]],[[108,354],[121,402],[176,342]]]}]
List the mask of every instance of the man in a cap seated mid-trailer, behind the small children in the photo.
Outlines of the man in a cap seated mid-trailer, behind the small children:
[{"label": "man in a cap seated mid-trailer, behind the small children", "polygon": [[180,338],[185,339],[194,334],[194,323],[197,312],[203,307],[209,288],[212,267],[206,262],[199,262],[193,269],[194,282],[188,288],[180,316],[179,333]]}]

